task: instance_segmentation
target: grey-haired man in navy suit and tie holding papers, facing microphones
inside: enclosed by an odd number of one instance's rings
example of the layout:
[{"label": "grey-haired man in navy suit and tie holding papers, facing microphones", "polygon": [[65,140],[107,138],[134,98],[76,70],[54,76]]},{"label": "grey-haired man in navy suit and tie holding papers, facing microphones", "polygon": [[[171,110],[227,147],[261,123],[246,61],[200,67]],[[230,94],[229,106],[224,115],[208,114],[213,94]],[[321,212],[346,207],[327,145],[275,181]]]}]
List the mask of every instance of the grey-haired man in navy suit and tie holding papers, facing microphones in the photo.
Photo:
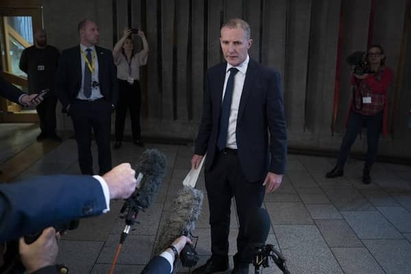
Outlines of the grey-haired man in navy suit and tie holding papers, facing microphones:
[{"label": "grey-haired man in navy suit and tie holding papers, facing microphones", "polygon": [[264,188],[271,192],[279,187],[285,170],[284,107],[278,73],[249,58],[249,24],[238,18],[225,23],[220,42],[227,62],[208,70],[203,117],[191,160],[197,169],[207,153],[212,256],[194,273],[228,269],[232,197],[240,225],[233,273],[248,273],[247,211],[261,206]]}]

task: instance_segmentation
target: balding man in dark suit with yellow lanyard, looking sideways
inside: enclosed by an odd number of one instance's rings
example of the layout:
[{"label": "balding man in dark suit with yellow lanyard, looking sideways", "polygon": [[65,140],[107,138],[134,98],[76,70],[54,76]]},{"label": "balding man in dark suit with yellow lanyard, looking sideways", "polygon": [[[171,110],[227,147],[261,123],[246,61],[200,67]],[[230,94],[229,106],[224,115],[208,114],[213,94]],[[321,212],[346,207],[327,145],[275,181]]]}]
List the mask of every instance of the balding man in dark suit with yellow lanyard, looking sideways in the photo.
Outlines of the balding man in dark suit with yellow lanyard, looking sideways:
[{"label": "balding man in dark suit with yellow lanyard, looking sideways", "polygon": [[111,114],[118,97],[116,68],[111,51],[96,46],[99,29],[95,22],[80,22],[78,31],[80,45],[66,49],[60,56],[56,92],[73,120],[80,170],[83,174],[94,174],[93,131],[99,150],[99,174],[102,175],[112,167],[110,133]]}]

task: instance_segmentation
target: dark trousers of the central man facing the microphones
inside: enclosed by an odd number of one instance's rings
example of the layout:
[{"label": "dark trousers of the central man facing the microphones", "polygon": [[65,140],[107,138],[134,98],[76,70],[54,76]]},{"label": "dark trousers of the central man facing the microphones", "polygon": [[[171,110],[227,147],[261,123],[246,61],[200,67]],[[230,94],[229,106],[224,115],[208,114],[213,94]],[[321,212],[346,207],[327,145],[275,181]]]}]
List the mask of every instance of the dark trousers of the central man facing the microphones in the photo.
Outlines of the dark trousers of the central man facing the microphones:
[{"label": "dark trousers of the central man facing the microphones", "polygon": [[262,182],[249,182],[242,173],[236,153],[217,153],[212,168],[205,171],[206,189],[210,207],[212,260],[225,260],[228,254],[228,235],[232,197],[236,200],[239,229],[238,252],[234,263],[251,262],[246,254],[249,239],[245,236],[247,213],[250,208],[260,207],[265,188]]}]

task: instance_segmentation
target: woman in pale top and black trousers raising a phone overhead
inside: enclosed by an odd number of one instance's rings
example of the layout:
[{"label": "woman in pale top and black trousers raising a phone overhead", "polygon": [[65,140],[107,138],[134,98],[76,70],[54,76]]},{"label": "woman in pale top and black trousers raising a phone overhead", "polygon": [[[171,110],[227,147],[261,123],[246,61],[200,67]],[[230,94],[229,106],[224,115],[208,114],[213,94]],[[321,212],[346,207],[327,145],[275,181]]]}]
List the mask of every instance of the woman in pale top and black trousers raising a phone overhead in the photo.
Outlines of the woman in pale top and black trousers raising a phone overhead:
[{"label": "woman in pale top and black trousers raising a phone overhead", "polygon": [[117,78],[119,79],[119,103],[117,103],[116,108],[116,142],[114,143],[114,149],[121,147],[127,108],[130,111],[132,120],[134,144],[142,146],[140,136],[141,90],[138,80],[140,79],[139,67],[147,64],[149,44],[144,32],[139,29],[136,29],[136,32],[142,40],[142,50],[140,52],[134,52],[131,38],[132,29],[128,27],[124,29],[123,37],[119,42],[116,42],[113,49],[114,64],[117,66]]}]

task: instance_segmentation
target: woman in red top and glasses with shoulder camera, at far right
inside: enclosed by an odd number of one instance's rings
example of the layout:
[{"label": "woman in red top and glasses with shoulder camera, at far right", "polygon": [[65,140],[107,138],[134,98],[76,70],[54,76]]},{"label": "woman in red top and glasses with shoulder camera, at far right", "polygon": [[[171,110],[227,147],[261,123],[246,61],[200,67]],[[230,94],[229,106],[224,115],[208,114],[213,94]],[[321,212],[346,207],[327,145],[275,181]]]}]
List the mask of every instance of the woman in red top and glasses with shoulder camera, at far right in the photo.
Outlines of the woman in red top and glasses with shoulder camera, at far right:
[{"label": "woman in red top and glasses with shoulder camera, at far right", "polygon": [[385,66],[386,56],[380,45],[369,47],[366,53],[369,73],[351,75],[353,100],[347,119],[347,131],[340,147],[337,164],[325,177],[334,178],[344,175],[344,164],[351,146],[361,129],[366,126],[367,151],[362,171],[362,182],[371,183],[371,167],[377,157],[378,140],[382,132],[387,134],[388,96],[387,89],[393,80],[393,72]]}]

